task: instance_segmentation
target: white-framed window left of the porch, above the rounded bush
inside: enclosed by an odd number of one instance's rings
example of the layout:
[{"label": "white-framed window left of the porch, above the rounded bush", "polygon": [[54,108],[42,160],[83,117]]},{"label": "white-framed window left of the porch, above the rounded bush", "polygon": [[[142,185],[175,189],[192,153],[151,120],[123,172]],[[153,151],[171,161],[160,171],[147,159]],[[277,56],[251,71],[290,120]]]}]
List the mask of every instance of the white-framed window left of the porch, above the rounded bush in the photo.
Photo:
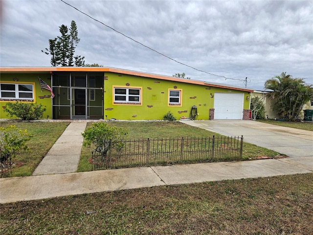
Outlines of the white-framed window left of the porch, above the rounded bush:
[{"label": "white-framed window left of the porch, above the rounded bush", "polygon": [[1,99],[34,99],[33,84],[18,84],[18,83],[1,83],[0,84]]}]

